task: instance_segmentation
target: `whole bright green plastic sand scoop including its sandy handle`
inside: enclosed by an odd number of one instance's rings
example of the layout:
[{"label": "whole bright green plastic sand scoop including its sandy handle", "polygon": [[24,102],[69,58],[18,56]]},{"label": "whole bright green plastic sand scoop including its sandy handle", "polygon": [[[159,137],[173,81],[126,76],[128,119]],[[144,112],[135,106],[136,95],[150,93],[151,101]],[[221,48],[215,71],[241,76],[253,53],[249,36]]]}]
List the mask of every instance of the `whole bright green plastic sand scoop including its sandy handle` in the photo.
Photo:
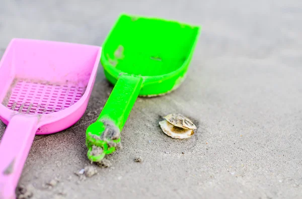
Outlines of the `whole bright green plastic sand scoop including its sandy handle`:
[{"label": "whole bright green plastic sand scoop including its sandy handle", "polygon": [[184,80],[200,28],[156,18],[122,14],[101,55],[114,88],[99,118],[86,131],[88,158],[101,161],[116,150],[120,132],[138,96],[158,96]]}]

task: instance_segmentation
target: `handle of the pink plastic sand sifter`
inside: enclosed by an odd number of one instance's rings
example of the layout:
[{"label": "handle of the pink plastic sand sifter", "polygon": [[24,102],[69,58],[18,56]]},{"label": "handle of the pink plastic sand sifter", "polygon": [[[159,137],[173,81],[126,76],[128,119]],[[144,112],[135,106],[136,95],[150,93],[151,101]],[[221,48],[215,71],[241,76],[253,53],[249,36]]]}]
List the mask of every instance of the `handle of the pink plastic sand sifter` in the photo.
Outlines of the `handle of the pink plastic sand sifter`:
[{"label": "handle of the pink plastic sand sifter", "polygon": [[38,129],[38,117],[17,114],[0,141],[0,199],[15,198],[24,163]]}]

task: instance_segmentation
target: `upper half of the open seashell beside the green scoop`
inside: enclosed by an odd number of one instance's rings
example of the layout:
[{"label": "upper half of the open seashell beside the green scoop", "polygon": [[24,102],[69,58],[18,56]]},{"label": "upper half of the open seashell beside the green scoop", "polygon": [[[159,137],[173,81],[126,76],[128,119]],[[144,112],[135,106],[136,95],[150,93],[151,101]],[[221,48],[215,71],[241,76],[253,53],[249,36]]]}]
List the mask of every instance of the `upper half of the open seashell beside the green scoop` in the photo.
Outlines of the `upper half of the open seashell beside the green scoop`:
[{"label": "upper half of the open seashell beside the green scoop", "polygon": [[193,122],[189,118],[183,116],[182,114],[179,113],[169,114],[164,118],[174,126],[178,126],[180,128],[186,128],[186,129],[196,129],[195,124],[193,124]]}]

